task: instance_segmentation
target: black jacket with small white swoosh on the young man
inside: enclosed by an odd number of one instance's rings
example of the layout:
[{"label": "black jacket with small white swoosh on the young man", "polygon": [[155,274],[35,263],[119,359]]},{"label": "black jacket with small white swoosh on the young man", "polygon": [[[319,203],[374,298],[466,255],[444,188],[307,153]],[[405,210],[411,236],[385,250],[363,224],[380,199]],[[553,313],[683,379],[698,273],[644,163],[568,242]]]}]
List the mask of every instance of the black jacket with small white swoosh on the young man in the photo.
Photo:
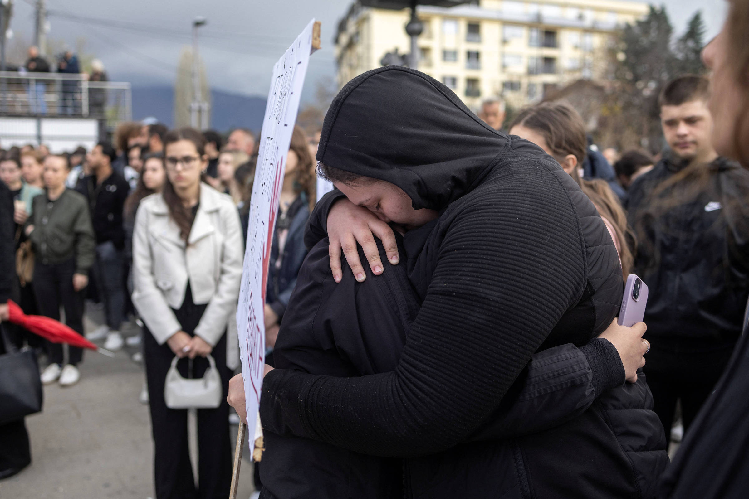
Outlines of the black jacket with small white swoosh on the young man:
[{"label": "black jacket with small white swoosh on the young man", "polygon": [[749,172],[718,158],[705,177],[664,184],[681,168],[663,159],[629,189],[647,334],[680,348],[731,346],[749,294]]}]

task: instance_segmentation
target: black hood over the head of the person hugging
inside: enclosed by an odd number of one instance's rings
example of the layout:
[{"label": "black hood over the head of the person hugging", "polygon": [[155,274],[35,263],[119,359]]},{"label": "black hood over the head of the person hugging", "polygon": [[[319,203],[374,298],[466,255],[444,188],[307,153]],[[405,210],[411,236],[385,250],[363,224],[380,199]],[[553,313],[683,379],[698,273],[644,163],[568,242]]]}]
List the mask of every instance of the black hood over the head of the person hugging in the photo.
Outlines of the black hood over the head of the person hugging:
[{"label": "black hood over the head of the person hugging", "polygon": [[443,209],[476,186],[508,143],[445,85],[386,66],[348,82],[325,116],[317,159],[393,183],[415,209]]}]

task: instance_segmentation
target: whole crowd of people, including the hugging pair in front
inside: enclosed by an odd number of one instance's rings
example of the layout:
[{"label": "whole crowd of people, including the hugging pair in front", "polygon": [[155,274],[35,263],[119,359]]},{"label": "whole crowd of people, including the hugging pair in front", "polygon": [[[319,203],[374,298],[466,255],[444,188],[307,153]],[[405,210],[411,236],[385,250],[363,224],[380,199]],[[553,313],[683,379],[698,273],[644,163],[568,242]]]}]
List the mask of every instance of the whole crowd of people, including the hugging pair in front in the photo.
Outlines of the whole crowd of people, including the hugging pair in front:
[{"label": "whole crowd of people, including the hugging pair in front", "polygon": [[[741,497],[749,171],[724,100],[749,99],[726,63],[749,67],[727,34],[745,3],[703,55],[712,88],[662,88],[655,157],[599,152],[563,102],[505,123],[502,100],[473,114],[395,66],[346,85],[319,135],[295,126],[264,308],[261,497]],[[246,417],[231,376],[258,142],[160,123],[114,138],[0,151],[0,260],[17,264],[0,301],[140,346],[157,498],[224,498],[230,405]],[[320,200],[316,173],[336,187]],[[649,297],[625,327],[630,274]],[[97,302],[105,324],[84,331]],[[46,356],[43,383],[79,381],[81,349],[4,329]],[[198,405],[197,486],[175,370],[219,379]],[[23,420],[0,424],[0,477],[30,459]]]}]

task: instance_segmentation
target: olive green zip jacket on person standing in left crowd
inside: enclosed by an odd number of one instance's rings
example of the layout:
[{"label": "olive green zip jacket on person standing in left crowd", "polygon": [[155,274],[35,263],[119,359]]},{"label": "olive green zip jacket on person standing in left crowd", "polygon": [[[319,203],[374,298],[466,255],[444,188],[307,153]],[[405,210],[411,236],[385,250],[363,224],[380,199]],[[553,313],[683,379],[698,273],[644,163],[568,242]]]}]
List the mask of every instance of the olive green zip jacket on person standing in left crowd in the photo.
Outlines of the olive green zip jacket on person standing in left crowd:
[{"label": "olive green zip jacket on person standing in left crowd", "polygon": [[46,193],[34,198],[34,209],[27,224],[34,225],[28,236],[38,263],[54,265],[76,259],[76,273],[88,275],[94,265],[94,227],[88,202],[79,192],[65,189],[57,200]]}]

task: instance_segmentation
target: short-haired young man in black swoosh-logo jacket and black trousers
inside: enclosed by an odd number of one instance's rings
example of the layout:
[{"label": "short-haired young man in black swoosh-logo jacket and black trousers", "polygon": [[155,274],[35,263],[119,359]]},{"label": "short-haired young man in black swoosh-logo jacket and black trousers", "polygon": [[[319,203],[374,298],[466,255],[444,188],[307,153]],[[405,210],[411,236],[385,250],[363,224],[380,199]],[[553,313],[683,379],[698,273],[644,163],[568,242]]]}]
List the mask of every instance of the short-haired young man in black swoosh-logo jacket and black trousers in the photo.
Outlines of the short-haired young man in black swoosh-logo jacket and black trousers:
[{"label": "short-haired young man in black swoosh-logo jacket and black trousers", "polygon": [[686,431],[721,376],[749,294],[749,172],[713,149],[707,98],[701,76],[664,88],[670,153],[629,190],[634,268],[650,290],[645,372],[667,434],[676,400]]}]

